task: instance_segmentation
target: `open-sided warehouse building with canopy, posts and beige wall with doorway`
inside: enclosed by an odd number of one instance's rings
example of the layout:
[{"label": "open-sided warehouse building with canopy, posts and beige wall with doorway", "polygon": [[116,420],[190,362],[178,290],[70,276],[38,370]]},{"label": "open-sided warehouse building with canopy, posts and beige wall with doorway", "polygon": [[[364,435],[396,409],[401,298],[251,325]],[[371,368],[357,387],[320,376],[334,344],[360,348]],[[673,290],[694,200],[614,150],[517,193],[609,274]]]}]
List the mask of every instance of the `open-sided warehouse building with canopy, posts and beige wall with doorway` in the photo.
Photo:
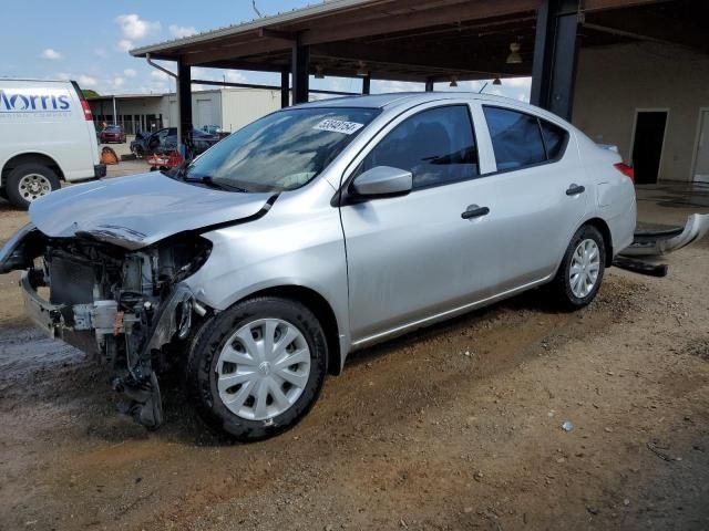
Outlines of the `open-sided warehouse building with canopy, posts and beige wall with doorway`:
[{"label": "open-sided warehouse building with canopy, posts and beige wall with doorway", "polygon": [[281,106],[311,76],[532,76],[532,103],[617,145],[638,183],[706,183],[707,20],[699,0],[331,0],[131,53],[175,62],[185,132],[197,66],[280,73]]}]

